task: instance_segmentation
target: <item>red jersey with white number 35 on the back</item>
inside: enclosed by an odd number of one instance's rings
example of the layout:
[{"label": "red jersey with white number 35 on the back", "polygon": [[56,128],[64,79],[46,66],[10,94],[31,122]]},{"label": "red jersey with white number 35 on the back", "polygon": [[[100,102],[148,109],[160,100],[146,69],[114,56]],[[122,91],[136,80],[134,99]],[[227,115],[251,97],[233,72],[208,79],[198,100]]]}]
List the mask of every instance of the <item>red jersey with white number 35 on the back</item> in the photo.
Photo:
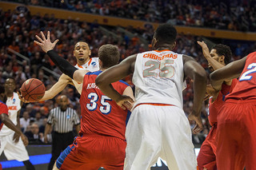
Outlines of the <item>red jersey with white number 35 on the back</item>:
[{"label": "red jersey with white number 35 on the back", "polygon": [[[81,131],[82,134],[98,134],[115,136],[125,140],[126,118],[128,110],[123,110],[115,101],[102,93],[95,85],[99,73],[86,73],[83,79],[81,105]],[[118,93],[129,86],[125,81],[112,83]]]}]

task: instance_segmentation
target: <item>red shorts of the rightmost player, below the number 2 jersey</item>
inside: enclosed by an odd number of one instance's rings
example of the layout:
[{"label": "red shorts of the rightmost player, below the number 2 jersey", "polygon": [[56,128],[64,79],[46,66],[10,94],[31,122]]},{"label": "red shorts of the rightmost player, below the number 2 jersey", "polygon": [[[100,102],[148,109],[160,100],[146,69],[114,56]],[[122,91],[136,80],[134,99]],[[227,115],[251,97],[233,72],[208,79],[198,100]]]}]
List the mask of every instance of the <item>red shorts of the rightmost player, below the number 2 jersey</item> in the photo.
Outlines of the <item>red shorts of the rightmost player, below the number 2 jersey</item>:
[{"label": "red shorts of the rightmost player, below the number 2 jersey", "polygon": [[256,169],[255,129],[255,101],[226,101],[218,114],[218,170]]}]

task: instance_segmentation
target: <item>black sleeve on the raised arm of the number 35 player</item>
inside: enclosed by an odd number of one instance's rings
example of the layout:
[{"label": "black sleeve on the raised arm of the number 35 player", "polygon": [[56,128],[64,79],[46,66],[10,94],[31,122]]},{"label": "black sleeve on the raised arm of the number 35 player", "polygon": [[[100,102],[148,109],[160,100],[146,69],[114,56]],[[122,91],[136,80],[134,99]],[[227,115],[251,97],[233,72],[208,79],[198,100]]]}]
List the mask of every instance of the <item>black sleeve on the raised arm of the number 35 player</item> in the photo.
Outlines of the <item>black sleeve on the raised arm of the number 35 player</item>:
[{"label": "black sleeve on the raised arm of the number 35 player", "polygon": [[58,68],[62,71],[62,73],[65,73],[70,78],[73,79],[73,74],[77,68],[75,68],[73,65],[70,65],[68,61],[66,61],[64,58],[60,57],[56,51],[53,49],[50,51],[47,51],[48,56],[52,61],[54,61],[54,64],[58,66]]}]

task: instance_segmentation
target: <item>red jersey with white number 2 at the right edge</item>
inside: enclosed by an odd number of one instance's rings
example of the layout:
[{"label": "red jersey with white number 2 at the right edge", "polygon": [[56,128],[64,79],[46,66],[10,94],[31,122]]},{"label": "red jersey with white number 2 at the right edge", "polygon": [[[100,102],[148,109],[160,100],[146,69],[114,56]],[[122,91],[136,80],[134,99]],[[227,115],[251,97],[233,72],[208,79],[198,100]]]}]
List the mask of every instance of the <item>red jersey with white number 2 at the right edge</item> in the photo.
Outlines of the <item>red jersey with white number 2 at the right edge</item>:
[{"label": "red jersey with white number 2 at the right edge", "polygon": [[246,65],[232,93],[226,96],[229,100],[256,100],[256,52],[246,57]]}]

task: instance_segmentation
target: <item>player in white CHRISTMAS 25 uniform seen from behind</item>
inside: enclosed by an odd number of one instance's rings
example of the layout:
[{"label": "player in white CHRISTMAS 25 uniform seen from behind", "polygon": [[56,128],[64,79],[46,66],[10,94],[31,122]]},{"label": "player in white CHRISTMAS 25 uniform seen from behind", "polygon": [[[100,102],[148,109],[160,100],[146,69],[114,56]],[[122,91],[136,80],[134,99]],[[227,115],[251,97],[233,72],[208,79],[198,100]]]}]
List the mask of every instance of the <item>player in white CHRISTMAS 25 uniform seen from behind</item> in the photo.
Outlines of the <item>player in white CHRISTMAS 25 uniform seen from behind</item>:
[{"label": "player in white CHRISTMAS 25 uniform seen from behind", "polygon": [[129,100],[111,86],[114,81],[133,75],[135,99],[126,127],[126,170],[150,169],[161,156],[171,169],[196,169],[190,123],[182,110],[182,85],[194,80],[194,105],[190,120],[193,132],[202,130],[200,117],[206,93],[206,72],[192,57],[174,53],[177,32],[174,26],[158,26],[153,51],[127,57],[96,78],[96,85],[108,97],[123,105]]}]

